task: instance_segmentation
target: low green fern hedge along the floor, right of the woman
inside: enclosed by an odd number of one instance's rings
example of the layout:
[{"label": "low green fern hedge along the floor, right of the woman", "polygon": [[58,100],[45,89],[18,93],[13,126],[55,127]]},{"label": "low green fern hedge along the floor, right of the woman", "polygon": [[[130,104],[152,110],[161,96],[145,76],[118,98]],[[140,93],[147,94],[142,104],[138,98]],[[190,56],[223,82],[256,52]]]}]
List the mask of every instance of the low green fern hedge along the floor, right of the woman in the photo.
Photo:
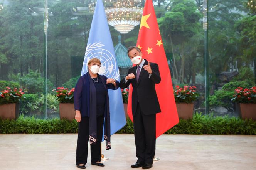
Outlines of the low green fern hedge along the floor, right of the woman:
[{"label": "low green fern hedge along the floor, right of the woman", "polygon": [[[127,124],[117,133],[134,133],[133,124],[130,119]],[[193,119],[180,119],[179,123],[165,134],[211,134],[211,135],[256,135],[256,122],[242,120],[238,117],[202,115],[195,113]]]}]

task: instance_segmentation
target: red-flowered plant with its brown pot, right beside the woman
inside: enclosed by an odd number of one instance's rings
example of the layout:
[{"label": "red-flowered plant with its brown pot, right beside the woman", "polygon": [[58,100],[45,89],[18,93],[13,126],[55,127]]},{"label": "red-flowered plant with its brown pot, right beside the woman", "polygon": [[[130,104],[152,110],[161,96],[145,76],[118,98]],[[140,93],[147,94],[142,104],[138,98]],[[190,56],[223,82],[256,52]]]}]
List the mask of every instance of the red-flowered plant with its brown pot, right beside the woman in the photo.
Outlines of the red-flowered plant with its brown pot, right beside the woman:
[{"label": "red-flowered plant with its brown pot, right beside the woman", "polygon": [[61,119],[73,120],[75,117],[74,91],[74,88],[70,90],[64,87],[57,88],[56,96],[59,101],[59,115]]}]

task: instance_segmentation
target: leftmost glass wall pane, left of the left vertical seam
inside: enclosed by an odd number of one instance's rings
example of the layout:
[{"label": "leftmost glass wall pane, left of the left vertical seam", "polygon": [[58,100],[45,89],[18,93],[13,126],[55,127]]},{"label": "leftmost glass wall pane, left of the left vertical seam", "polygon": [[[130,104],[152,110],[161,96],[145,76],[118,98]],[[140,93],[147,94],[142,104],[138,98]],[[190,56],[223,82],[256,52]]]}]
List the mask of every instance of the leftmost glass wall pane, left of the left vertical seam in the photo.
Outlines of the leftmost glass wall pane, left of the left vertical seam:
[{"label": "leftmost glass wall pane, left of the left vertical seam", "polygon": [[44,106],[43,7],[42,0],[0,0],[0,91],[22,88],[20,114],[37,117]]}]

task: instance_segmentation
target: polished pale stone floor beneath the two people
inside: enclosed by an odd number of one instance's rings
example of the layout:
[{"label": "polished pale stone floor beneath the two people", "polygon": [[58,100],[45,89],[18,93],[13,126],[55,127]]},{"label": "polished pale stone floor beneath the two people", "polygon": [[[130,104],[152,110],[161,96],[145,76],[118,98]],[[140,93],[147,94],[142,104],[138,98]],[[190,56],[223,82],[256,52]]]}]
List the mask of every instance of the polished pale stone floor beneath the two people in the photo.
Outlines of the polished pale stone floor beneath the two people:
[{"label": "polished pale stone floor beneath the two people", "polygon": [[[76,142],[77,134],[0,134],[0,170],[78,170]],[[105,167],[91,165],[88,154],[86,169],[131,170],[134,136],[115,134],[111,147],[102,150]],[[256,170],[256,136],[162,135],[155,156],[152,170]]]}]

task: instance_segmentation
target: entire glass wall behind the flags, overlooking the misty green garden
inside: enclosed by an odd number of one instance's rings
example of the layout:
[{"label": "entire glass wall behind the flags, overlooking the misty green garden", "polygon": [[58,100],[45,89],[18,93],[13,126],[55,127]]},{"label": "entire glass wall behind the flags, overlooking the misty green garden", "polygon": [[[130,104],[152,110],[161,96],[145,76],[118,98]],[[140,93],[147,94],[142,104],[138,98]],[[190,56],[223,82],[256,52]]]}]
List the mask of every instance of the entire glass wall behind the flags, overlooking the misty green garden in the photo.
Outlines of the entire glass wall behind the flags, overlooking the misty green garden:
[{"label": "entire glass wall behind the flags, overlooking the misty green garden", "polygon": [[[0,88],[19,83],[26,97],[20,114],[59,116],[52,89],[73,88],[81,74],[92,2],[0,0]],[[256,18],[248,2],[153,0],[174,89],[197,87],[195,112],[238,116],[234,89],[255,85]],[[119,33],[109,28],[115,46]],[[121,43],[136,45],[138,31],[121,34]]]}]

